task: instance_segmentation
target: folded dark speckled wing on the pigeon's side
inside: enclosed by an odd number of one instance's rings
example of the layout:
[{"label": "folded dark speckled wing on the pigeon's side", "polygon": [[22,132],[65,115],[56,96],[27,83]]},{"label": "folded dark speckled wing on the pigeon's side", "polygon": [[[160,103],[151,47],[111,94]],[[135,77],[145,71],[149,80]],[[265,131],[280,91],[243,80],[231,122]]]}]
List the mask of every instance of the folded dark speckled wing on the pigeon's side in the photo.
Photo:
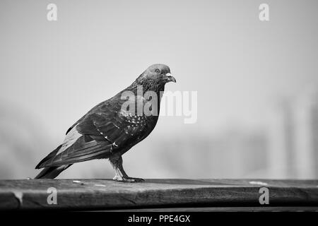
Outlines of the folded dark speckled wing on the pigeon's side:
[{"label": "folded dark speckled wing on the pigeon's side", "polygon": [[[39,167],[69,165],[107,158],[141,141],[147,130],[146,119],[112,109],[87,114],[66,136],[57,155]],[[71,143],[71,144],[70,144]]]}]

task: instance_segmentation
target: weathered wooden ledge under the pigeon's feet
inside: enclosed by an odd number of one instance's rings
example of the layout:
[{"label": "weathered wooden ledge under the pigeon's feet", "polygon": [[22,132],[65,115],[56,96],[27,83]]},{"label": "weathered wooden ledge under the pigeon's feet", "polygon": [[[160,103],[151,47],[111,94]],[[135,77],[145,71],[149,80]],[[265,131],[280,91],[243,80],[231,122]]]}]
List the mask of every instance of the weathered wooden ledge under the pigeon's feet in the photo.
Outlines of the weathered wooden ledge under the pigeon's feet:
[{"label": "weathered wooden ledge under the pigeon's feet", "polygon": [[[269,204],[259,202],[262,187],[269,189]],[[146,179],[142,183],[113,182],[110,179],[0,181],[0,210],[33,209],[318,210],[318,180]]]}]

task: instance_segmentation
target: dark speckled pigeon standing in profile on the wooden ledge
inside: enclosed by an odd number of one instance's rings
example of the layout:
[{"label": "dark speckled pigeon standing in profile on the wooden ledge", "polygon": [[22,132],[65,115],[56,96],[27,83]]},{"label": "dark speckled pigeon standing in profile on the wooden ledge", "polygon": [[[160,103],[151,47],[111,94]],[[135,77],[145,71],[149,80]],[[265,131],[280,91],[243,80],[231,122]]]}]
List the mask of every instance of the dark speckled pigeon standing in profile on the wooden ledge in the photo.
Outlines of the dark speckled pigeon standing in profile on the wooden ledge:
[{"label": "dark speckled pigeon standing in profile on the wooden ledge", "polygon": [[[54,179],[76,162],[108,159],[114,168],[114,181],[142,182],[143,179],[126,174],[122,155],[155,128],[165,84],[171,81],[176,82],[168,66],[149,66],[128,88],[96,105],[76,121],[66,131],[64,142],[35,167],[44,168],[35,179]],[[151,100],[152,105],[149,104]],[[143,108],[149,109],[151,114]]]}]

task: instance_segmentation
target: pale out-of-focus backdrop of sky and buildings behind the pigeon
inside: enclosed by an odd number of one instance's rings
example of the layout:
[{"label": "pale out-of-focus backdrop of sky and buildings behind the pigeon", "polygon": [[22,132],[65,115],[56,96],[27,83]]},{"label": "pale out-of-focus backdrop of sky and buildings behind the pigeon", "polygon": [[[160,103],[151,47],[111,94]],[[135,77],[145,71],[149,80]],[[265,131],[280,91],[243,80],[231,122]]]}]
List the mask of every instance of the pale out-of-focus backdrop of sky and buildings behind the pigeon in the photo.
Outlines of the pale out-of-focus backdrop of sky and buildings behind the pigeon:
[{"label": "pale out-of-focus backdrop of sky and buildings behind the pigeon", "polygon": [[[47,5],[57,5],[57,21]],[[269,4],[269,21],[259,5]],[[160,117],[124,155],[131,177],[318,178],[318,1],[0,1],[0,179],[148,66],[197,91],[197,121]],[[59,178],[112,178],[107,160]]]}]

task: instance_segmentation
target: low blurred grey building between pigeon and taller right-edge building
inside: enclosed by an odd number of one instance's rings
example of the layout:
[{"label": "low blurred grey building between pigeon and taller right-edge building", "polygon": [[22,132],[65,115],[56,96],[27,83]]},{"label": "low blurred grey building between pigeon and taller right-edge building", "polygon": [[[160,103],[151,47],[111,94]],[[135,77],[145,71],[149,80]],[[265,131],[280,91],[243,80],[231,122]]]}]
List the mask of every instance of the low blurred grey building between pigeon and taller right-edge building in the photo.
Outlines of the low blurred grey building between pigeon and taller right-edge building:
[{"label": "low blurred grey building between pigeon and taller right-edge building", "polygon": [[267,138],[263,131],[225,129],[214,135],[163,138],[155,145],[162,167],[176,177],[248,178],[264,177],[267,169]]}]

